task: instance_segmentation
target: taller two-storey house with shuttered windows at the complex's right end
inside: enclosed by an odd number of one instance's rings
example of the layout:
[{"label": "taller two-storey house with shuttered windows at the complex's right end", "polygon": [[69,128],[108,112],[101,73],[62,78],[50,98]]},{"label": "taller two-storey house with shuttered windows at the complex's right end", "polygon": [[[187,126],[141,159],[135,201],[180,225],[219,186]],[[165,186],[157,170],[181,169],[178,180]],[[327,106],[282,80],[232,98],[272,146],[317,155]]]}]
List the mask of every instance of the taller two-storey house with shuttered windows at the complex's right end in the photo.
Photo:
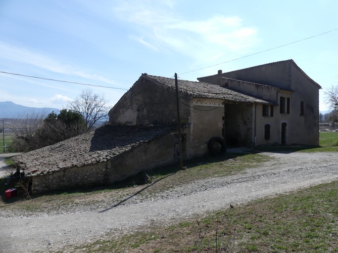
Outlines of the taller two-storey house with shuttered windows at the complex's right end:
[{"label": "taller two-storey house with shuttered windows at the complex's right end", "polygon": [[218,84],[271,102],[269,106],[252,105],[251,121],[254,124],[251,140],[243,138],[241,130],[229,128],[236,116],[240,117],[241,106],[225,105],[225,139],[229,144],[319,145],[321,86],[307,76],[293,60],[227,73],[219,71],[217,75],[197,80]]}]

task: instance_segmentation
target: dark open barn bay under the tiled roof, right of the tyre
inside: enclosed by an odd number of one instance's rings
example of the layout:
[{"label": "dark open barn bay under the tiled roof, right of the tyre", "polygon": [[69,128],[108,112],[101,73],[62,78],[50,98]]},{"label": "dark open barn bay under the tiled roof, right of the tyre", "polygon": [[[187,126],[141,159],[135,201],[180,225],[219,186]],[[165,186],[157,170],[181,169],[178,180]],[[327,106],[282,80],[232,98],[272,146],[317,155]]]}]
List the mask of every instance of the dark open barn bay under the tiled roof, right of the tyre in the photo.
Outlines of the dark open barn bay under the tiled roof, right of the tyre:
[{"label": "dark open barn bay under the tiled roof, right of the tyre", "polygon": [[225,104],[225,141],[228,146],[253,145],[252,104]]}]

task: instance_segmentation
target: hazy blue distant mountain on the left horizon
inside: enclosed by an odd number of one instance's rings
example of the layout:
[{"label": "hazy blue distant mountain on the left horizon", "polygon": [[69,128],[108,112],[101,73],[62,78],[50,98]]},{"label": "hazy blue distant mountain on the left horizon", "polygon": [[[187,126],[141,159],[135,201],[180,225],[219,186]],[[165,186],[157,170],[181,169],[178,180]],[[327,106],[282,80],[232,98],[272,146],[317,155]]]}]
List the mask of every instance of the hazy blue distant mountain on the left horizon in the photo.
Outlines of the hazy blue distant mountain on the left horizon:
[{"label": "hazy blue distant mountain on the left horizon", "polygon": [[9,118],[9,119],[17,119],[21,117],[26,117],[27,114],[40,114],[46,113],[46,116],[54,111],[56,114],[60,112],[60,110],[56,108],[37,108],[37,107],[28,107],[23,105],[14,104],[11,101],[0,102],[0,119]]}]

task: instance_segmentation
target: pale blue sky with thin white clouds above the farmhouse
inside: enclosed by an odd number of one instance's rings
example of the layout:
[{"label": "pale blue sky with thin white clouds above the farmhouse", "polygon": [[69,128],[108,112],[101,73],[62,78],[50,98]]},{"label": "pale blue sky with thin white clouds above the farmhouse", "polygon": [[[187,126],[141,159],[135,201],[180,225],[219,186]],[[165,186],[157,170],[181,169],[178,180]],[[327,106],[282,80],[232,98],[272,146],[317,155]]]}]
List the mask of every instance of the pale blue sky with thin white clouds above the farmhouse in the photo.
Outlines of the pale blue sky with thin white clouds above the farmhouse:
[{"label": "pale blue sky with thin white clouds above the farmhouse", "polygon": [[0,73],[0,101],[62,109],[89,87],[113,106],[142,73],[197,81],[293,59],[323,87],[327,110],[337,9],[336,0],[0,0],[0,71],[120,88]]}]

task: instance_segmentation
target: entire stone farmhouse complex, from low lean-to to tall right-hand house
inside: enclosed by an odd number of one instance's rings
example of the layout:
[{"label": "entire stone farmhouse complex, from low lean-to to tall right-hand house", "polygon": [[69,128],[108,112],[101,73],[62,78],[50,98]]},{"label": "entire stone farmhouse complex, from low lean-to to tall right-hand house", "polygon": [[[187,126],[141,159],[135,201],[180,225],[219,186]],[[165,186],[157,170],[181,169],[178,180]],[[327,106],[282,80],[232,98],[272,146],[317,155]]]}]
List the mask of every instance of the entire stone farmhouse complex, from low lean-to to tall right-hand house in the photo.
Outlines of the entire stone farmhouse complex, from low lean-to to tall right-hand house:
[{"label": "entire stone farmhouse complex, from low lean-to to tall right-hand house", "polygon": [[[178,80],[184,159],[223,153],[224,141],[318,145],[321,87],[293,60],[219,71],[198,81]],[[111,184],[177,163],[177,126],[175,80],[142,74],[109,111],[108,126],[14,161],[33,193]]]}]

